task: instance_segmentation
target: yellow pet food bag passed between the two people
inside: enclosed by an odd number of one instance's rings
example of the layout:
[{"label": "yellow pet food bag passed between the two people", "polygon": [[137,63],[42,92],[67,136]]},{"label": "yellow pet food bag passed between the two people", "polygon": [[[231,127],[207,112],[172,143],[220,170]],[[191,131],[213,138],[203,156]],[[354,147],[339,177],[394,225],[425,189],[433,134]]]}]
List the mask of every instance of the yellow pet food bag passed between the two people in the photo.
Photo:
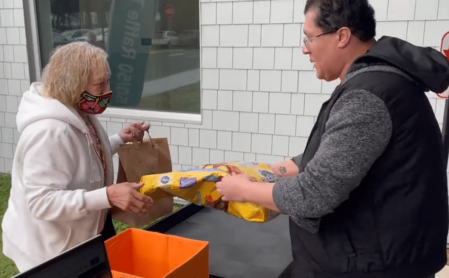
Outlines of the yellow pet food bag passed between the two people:
[{"label": "yellow pet food bag passed between the two people", "polygon": [[262,163],[203,165],[186,171],[143,176],[140,181],[145,184],[140,188],[140,192],[154,201],[177,196],[195,205],[223,210],[227,214],[252,222],[266,222],[278,215],[255,203],[223,201],[222,195],[217,193],[215,183],[231,173],[246,174],[255,182],[265,182],[274,175],[270,167]]}]

